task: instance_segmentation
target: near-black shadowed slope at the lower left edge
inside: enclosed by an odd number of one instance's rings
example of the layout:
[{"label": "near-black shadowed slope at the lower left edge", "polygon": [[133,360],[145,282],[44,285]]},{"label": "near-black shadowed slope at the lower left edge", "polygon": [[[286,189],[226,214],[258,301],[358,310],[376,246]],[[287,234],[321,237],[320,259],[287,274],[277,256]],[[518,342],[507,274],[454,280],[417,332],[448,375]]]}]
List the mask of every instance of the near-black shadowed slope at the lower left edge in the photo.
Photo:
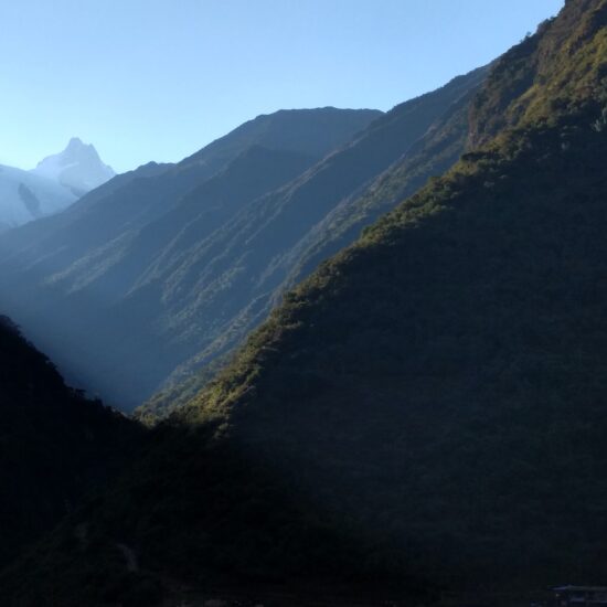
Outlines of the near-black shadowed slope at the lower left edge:
[{"label": "near-black shadowed slope at the lower left edge", "polygon": [[140,430],[68,388],[0,318],[0,566],[132,455]]}]

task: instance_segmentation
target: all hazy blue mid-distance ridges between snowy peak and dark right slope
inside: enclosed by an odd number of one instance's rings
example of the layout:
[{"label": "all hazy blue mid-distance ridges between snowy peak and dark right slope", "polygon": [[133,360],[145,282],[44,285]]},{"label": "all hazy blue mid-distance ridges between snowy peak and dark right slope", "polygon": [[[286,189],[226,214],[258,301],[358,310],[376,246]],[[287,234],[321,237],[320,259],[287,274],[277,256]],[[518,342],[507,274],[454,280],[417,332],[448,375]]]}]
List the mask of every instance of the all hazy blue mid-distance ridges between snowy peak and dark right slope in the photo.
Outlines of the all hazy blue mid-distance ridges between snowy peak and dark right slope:
[{"label": "all hazy blue mid-distance ridges between snowy peak and dark right slope", "polygon": [[[152,179],[135,172],[108,195],[93,191],[0,239],[0,302],[68,379],[117,406],[188,377],[199,387],[195,371],[264,320],[285,288],[457,160],[484,75],[383,116],[262,116]],[[394,163],[414,167],[407,188],[354,211]],[[150,411],[171,408],[169,394]]]}]

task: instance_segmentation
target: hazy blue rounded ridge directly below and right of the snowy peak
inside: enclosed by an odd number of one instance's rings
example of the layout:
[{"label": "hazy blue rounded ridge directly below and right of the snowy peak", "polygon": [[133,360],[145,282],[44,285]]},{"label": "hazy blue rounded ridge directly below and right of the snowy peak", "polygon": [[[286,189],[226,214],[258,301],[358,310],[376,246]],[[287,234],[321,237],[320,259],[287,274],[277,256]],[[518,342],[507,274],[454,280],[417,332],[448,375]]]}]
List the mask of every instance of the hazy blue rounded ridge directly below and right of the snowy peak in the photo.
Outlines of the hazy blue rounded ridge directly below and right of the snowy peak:
[{"label": "hazy blue rounded ridge directly below and right of the snowy peak", "polygon": [[[183,310],[167,302],[187,288],[175,287],[182,271],[160,287],[145,278],[179,257],[182,243],[203,241],[211,225],[217,228],[380,115],[320,108],[259,116],[177,166],[119,175],[66,213],[11,231],[0,238],[4,309],[70,380],[123,407],[139,404],[181,362],[184,348],[172,328]],[[200,236],[191,224],[203,225]]]}]

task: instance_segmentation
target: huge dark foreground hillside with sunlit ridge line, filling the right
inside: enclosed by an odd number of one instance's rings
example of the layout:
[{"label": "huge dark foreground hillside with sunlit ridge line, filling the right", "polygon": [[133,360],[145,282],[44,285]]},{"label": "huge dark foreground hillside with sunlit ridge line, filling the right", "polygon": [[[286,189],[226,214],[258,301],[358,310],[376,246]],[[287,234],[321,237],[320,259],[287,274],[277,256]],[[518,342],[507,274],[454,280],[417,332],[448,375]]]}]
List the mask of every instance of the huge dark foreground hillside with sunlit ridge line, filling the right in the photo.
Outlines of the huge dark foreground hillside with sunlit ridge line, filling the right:
[{"label": "huge dark foreground hillside with sunlit ridge line, filling the right", "polygon": [[175,579],[605,579],[606,75],[607,2],[569,0],[494,66],[482,147],[292,291],[3,603],[120,603],[117,542],[146,605]]}]

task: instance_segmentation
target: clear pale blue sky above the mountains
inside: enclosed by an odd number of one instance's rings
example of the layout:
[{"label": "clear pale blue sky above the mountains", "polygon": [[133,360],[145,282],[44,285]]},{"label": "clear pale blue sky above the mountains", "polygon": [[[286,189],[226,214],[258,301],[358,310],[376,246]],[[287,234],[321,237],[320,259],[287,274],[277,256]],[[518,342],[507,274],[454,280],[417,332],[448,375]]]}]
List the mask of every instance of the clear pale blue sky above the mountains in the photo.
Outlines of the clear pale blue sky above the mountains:
[{"label": "clear pale blue sky above the mountains", "polygon": [[482,65],[563,0],[0,0],[0,162],[71,136],[118,171],[279,108],[374,107]]}]

